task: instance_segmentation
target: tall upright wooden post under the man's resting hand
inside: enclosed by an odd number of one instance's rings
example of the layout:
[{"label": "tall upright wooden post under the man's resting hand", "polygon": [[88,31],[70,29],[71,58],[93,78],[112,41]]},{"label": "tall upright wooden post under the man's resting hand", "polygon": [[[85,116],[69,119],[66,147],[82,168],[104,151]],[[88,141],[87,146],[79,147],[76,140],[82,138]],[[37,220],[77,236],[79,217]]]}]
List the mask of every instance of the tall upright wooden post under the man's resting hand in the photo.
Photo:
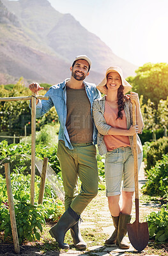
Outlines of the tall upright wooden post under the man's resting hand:
[{"label": "tall upright wooden post under the man's resting hand", "polygon": [[31,98],[31,205],[34,205],[35,154],[36,154],[36,93],[32,92],[32,98]]}]

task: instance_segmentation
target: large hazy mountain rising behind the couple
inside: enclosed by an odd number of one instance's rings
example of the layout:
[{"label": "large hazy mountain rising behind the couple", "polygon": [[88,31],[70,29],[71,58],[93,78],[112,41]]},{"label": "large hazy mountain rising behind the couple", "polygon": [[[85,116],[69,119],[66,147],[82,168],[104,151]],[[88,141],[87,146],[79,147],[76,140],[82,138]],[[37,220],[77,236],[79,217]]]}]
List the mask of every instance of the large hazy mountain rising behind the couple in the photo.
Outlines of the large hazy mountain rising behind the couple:
[{"label": "large hazy mountain rising behind the couple", "polygon": [[79,54],[91,58],[87,80],[96,84],[110,65],[121,67],[125,77],[137,68],[47,0],[0,0],[0,84],[21,76],[27,83],[59,83],[70,77]]}]

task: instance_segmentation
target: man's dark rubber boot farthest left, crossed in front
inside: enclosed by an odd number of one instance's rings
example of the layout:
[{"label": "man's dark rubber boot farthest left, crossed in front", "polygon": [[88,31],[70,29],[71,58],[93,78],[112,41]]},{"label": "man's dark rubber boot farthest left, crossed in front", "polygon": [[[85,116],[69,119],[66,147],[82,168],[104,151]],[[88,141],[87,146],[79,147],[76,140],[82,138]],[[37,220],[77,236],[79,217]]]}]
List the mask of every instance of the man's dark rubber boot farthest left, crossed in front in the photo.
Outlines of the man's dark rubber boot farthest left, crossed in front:
[{"label": "man's dark rubber boot farthest left, crossed in front", "polygon": [[80,216],[72,210],[71,207],[68,208],[66,212],[61,216],[57,224],[50,228],[49,233],[54,237],[62,249],[69,249],[70,246],[64,243],[65,234],[77,221],[79,221]]}]

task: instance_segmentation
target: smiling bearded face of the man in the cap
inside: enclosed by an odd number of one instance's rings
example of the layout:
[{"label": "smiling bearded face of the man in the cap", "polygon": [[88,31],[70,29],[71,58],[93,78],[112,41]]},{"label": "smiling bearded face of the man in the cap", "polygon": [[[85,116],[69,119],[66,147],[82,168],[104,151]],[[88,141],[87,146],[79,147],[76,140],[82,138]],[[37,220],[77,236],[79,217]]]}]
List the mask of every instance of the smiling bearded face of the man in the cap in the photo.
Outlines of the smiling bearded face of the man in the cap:
[{"label": "smiling bearded face of the man in the cap", "polygon": [[78,81],[84,80],[89,75],[88,69],[89,63],[86,60],[77,60],[75,65],[70,68],[72,76]]}]

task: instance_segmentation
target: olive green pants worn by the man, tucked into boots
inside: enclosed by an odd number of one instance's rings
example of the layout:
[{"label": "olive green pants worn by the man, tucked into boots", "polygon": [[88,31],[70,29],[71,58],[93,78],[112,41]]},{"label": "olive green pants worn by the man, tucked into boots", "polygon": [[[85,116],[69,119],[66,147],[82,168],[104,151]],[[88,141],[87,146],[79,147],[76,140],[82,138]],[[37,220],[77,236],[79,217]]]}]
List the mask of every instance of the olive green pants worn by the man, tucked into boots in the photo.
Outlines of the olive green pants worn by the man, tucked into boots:
[{"label": "olive green pants worn by the man, tucked into boots", "polygon": [[[57,157],[61,166],[65,189],[65,211],[71,207],[81,214],[98,193],[96,147],[93,143],[72,143],[73,150],[59,140]],[[81,190],[78,193],[78,177]]]}]

